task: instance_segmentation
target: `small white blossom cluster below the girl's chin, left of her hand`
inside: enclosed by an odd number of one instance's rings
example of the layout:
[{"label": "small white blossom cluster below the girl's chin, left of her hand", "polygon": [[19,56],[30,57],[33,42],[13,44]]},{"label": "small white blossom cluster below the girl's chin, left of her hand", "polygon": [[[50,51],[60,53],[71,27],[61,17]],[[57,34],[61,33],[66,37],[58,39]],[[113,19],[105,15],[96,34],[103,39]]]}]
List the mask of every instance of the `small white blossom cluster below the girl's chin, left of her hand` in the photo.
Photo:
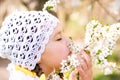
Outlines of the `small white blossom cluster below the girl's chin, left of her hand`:
[{"label": "small white blossom cluster below the girl's chin, left of her hand", "polygon": [[54,70],[49,74],[47,80],[69,80],[70,73],[80,65],[77,54],[68,56],[68,59],[63,60],[61,65],[59,70]]}]

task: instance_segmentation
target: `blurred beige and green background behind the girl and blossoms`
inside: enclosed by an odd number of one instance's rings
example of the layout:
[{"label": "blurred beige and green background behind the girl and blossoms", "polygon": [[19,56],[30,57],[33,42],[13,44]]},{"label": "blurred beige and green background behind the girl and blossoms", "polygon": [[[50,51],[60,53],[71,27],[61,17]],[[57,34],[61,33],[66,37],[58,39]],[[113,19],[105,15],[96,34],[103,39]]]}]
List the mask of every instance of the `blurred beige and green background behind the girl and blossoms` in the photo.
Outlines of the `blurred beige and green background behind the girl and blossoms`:
[{"label": "blurred beige and green background behind the girl and blossoms", "polygon": [[[0,0],[0,26],[10,13],[22,10],[39,11],[46,1],[48,0]],[[104,25],[120,23],[120,0],[60,0],[56,12],[50,12],[60,19],[66,36],[83,42],[86,24],[92,18],[98,19]],[[120,65],[120,39],[117,41],[113,55],[108,59]],[[1,75],[4,75],[1,70],[5,69],[8,62],[0,59]],[[93,69],[93,73],[94,80],[120,80],[120,70],[106,76],[97,69]],[[0,76],[0,79],[7,80],[7,77],[8,74]]]}]

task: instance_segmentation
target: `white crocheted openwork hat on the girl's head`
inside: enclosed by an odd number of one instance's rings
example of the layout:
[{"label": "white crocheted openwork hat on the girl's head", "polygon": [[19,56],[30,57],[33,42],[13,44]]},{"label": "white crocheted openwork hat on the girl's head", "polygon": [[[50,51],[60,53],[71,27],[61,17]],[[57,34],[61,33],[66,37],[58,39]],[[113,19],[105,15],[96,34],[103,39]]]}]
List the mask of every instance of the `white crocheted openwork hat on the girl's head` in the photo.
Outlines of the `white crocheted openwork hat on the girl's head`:
[{"label": "white crocheted openwork hat on the girl's head", "polygon": [[22,11],[8,16],[0,30],[0,56],[33,70],[59,20],[46,11]]}]

